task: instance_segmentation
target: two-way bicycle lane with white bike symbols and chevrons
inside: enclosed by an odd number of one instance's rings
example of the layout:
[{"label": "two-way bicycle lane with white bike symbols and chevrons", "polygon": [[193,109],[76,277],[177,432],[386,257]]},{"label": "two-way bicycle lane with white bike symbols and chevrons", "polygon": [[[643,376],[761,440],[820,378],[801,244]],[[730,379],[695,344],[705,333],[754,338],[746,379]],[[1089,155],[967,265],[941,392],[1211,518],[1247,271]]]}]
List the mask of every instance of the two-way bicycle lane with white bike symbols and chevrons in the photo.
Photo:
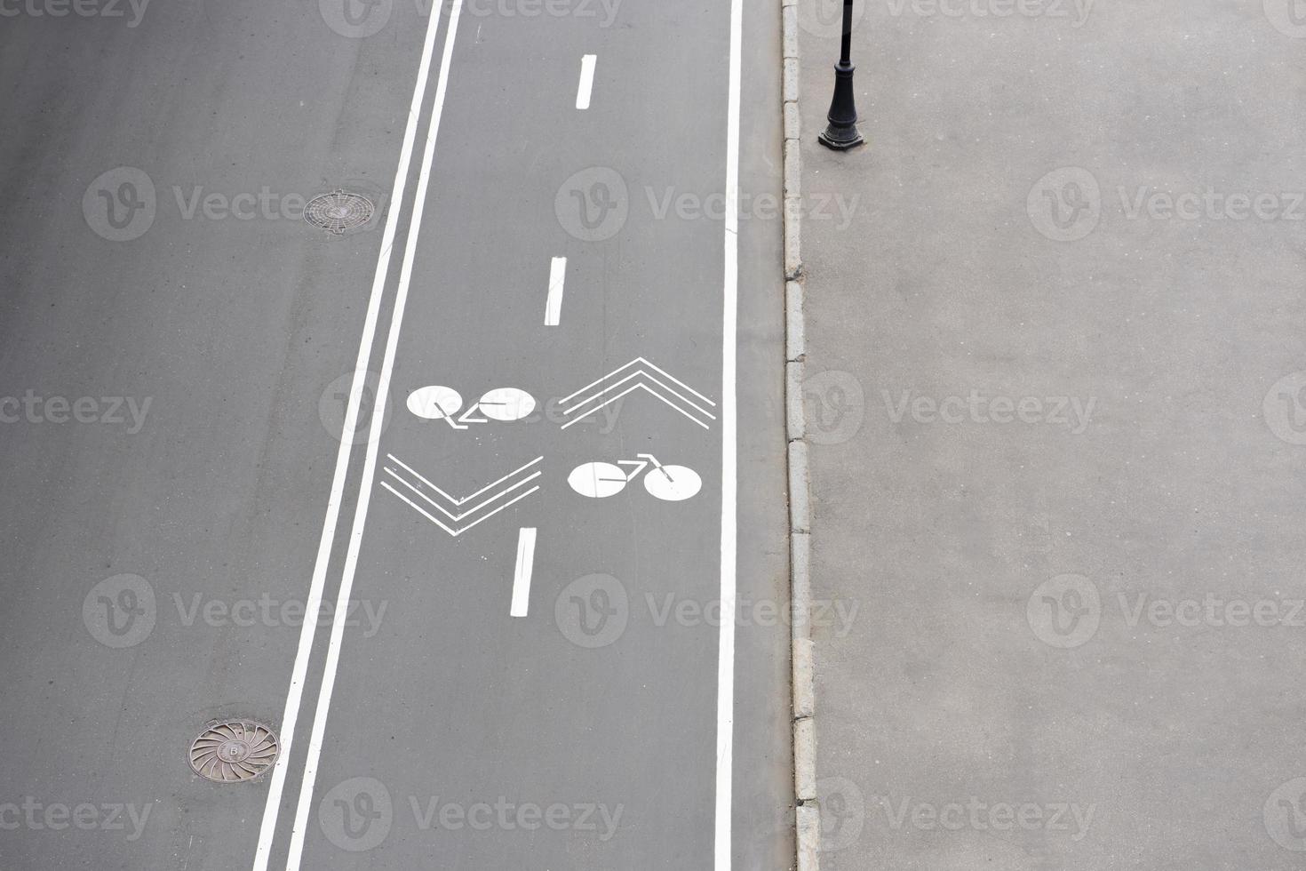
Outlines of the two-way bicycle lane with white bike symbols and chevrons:
[{"label": "two-way bicycle lane with white bike symbols and chevrons", "polygon": [[[654,202],[722,189],[730,10],[688,10],[460,25],[303,867],[713,861],[722,226]],[[641,454],[701,488],[569,483]]]}]

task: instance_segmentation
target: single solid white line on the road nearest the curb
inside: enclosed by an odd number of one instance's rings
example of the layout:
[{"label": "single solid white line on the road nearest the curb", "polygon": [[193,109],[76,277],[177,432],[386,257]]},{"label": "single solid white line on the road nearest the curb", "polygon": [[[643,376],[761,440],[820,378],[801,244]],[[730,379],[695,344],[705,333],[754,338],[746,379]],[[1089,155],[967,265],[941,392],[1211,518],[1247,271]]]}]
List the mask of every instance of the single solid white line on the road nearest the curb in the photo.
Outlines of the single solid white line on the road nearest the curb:
[{"label": "single solid white line on the road nearest the curb", "polygon": [[735,636],[735,353],[739,309],[739,81],[743,0],[730,0],[730,95],[726,104],[725,287],[721,324],[721,641],[717,648],[716,871],[730,871],[734,789]]}]

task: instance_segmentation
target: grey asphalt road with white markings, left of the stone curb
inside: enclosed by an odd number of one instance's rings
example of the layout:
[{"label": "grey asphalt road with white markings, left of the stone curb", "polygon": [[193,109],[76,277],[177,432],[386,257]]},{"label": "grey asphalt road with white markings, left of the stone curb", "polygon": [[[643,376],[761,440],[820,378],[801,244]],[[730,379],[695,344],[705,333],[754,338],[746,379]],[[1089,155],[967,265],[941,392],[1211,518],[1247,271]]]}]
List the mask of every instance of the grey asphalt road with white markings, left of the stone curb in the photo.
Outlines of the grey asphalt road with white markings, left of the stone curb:
[{"label": "grey asphalt road with white markings, left of the stone curb", "polygon": [[0,4],[0,867],[791,866],[778,18]]}]

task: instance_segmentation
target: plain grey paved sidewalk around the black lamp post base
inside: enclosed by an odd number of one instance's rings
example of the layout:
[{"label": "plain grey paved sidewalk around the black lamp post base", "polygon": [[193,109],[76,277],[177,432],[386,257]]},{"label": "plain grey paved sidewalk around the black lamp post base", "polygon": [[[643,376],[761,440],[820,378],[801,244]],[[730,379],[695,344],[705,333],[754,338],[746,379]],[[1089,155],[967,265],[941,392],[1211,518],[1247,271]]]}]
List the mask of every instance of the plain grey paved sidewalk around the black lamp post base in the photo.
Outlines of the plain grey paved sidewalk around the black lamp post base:
[{"label": "plain grey paved sidewalk around the black lamp post base", "polygon": [[827,871],[1306,861],[1290,1],[799,0]]}]

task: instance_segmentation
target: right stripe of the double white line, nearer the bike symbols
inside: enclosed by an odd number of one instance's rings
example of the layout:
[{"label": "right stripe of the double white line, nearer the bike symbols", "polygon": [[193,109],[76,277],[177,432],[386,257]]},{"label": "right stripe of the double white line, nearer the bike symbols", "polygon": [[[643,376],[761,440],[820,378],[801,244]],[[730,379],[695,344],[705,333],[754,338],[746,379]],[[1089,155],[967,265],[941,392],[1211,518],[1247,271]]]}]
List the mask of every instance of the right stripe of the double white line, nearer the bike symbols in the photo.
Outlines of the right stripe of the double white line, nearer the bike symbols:
[{"label": "right stripe of the double white line, nearer the bike symbols", "polygon": [[[449,87],[449,63],[453,59],[453,39],[458,33],[458,18],[461,14],[462,0],[451,0],[444,54],[440,56],[440,73],[436,77],[435,97],[431,101],[431,127],[426,135],[422,168],[418,174],[417,195],[413,200],[413,218],[409,225],[407,243],[404,245],[404,262],[400,268],[394,312],[390,315],[390,332],[385,340],[385,356],[381,362],[381,376],[376,385],[376,404],[372,407],[372,426],[367,431],[367,456],[363,461],[363,479],[359,484],[358,507],[354,511],[354,526],[349,534],[349,551],[345,555],[345,571],[340,584],[340,595],[336,601],[337,614],[330,627],[326,665],[323,670],[323,683],[317,693],[317,709],[313,713],[313,729],[308,736],[308,759],[304,761],[304,780],[299,789],[299,804],[295,808],[295,827],[290,834],[290,857],[286,861],[286,871],[299,871],[299,862],[303,858],[304,833],[308,829],[308,811],[312,806],[313,784],[317,780],[317,763],[321,757],[323,738],[326,733],[326,714],[330,710],[330,697],[336,688],[341,640],[345,636],[345,615],[340,612],[340,609],[349,609],[349,598],[354,589],[354,573],[358,569],[358,548],[363,541],[363,525],[367,522],[367,508],[372,499],[372,484],[376,478],[376,454],[380,448],[381,430],[385,422],[385,407],[389,404],[390,373],[394,371],[394,354],[398,347],[400,326],[404,324],[404,307],[407,304],[409,286],[413,281],[413,260],[417,255],[417,240],[422,230],[422,213],[426,206],[427,188],[431,183],[431,162],[435,158],[435,140],[440,132],[440,116],[444,114],[444,95]],[[436,18],[439,16],[431,16],[432,27]]]}]

